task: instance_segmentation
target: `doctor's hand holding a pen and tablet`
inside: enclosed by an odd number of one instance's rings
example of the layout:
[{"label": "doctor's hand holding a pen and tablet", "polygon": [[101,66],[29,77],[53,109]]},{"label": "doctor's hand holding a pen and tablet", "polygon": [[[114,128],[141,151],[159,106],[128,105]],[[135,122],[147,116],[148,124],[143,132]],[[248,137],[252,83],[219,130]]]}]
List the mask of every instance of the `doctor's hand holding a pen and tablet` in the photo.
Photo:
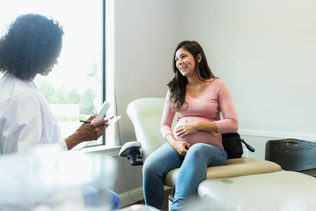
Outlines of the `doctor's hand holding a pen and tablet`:
[{"label": "doctor's hand holding a pen and tablet", "polygon": [[[92,115],[87,121],[92,122],[97,114]],[[83,141],[97,140],[108,126],[105,126],[109,120],[101,119],[94,123],[83,123],[74,134],[65,139],[68,150],[72,149],[77,144]]]}]

